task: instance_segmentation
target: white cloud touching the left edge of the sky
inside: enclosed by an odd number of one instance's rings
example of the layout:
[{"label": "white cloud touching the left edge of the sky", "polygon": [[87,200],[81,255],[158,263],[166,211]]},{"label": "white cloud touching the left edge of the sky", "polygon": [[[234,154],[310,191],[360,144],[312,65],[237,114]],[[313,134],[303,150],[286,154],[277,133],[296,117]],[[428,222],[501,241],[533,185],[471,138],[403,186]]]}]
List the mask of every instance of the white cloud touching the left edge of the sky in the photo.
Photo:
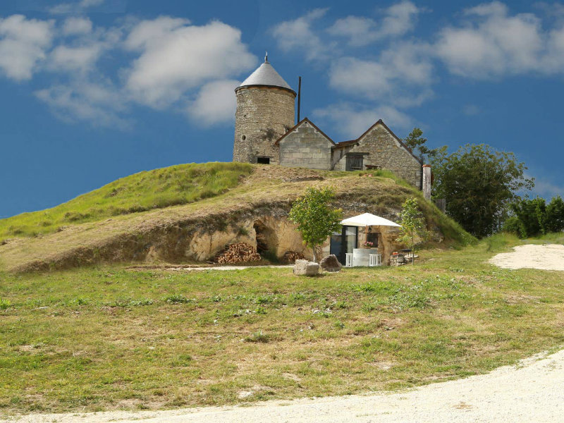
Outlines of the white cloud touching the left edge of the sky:
[{"label": "white cloud touching the left edge of the sky", "polygon": [[45,59],[54,37],[53,21],[22,15],[0,18],[0,71],[13,80],[29,80]]}]

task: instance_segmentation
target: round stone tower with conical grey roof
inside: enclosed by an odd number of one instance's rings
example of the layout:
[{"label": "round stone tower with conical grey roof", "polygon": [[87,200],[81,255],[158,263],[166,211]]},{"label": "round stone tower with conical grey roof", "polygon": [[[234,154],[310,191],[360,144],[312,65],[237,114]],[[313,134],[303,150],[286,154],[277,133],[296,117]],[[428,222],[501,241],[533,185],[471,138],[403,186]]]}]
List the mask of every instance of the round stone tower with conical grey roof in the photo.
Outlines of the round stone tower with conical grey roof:
[{"label": "round stone tower with conical grey roof", "polygon": [[233,161],[278,164],[274,142],[294,126],[295,91],[269,63],[268,55],[249,78],[235,88]]}]

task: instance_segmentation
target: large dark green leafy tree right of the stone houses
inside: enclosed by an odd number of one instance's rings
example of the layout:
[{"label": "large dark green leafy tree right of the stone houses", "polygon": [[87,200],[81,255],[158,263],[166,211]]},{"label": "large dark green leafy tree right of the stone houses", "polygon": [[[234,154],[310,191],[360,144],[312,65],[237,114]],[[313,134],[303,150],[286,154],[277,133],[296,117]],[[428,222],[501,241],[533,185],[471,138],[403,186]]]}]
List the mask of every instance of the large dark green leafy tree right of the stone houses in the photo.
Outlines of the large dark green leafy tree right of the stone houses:
[{"label": "large dark green leafy tree right of the stone houses", "polygon": [[525,177],[525,164],[517,163],[513,153],[484,144],[465,145],[453,154],[443,147],[431,166],[433,197],[446,198],[447,214],[477,237],[498,230],[510,204],[520,200],[517,192],[534,186],[534,179]]}]

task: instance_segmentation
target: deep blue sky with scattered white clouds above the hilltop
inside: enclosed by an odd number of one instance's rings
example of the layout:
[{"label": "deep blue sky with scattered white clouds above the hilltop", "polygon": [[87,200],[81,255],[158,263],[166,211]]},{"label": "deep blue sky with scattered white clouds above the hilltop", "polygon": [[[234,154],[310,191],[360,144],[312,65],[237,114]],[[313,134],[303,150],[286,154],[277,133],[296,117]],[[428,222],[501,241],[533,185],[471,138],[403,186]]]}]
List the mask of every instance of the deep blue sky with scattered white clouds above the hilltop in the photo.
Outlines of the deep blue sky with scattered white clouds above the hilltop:
[{"label": "deep blue sky with scattered white clouds above the hilltop", "polygon": [[0,216],[137,171],[231,161],[269,51],[341,141],[384,121],[515,152],[563,193],[564,5],[529,1],[0,1]]}]

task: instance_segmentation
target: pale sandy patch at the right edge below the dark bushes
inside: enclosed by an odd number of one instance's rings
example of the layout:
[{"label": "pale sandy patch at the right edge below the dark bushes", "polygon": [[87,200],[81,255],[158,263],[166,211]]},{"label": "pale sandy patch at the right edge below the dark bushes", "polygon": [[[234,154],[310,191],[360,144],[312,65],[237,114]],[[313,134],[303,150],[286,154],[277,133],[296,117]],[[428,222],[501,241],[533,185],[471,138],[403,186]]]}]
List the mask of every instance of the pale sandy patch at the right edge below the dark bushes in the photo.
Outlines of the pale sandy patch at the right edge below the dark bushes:
[{"label": "pale sandy patch at the right edge below the dark bushes", "polygon": [[494,256],[489,262],[505,269],[564,270],[564,245],[519,245],[512,252]]}]

